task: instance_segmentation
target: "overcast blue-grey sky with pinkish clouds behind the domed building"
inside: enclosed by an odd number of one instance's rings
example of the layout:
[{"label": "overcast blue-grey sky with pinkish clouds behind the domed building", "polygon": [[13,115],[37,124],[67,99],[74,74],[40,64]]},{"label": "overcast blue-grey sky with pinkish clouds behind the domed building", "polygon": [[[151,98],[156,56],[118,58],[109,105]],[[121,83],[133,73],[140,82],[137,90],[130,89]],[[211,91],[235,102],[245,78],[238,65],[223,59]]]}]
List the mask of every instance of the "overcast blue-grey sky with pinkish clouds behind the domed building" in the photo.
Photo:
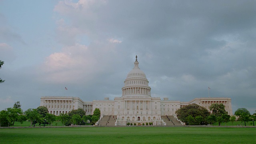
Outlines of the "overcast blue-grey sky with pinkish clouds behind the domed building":
[{"label": "overcast blue-grey sky with pinkish clouds behind the domed building", "polygon": [[0,110],[41,96],[114,100],[136,55],[152,97],[188,102],[210,87],[233,113],[255,113],[253,0],[1,0]]}]

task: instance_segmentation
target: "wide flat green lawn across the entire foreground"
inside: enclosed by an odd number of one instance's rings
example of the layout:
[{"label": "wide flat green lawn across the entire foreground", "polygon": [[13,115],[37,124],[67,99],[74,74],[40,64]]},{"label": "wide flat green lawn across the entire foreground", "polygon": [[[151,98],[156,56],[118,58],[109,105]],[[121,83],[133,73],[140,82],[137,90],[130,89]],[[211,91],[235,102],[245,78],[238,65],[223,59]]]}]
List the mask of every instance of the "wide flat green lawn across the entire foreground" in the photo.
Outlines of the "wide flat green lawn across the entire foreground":
[{"label": "wide flat green lawn across the entire foreground", "polygon": [[63,127],[3,128],[0,144],[255,144],[256,128]]}]

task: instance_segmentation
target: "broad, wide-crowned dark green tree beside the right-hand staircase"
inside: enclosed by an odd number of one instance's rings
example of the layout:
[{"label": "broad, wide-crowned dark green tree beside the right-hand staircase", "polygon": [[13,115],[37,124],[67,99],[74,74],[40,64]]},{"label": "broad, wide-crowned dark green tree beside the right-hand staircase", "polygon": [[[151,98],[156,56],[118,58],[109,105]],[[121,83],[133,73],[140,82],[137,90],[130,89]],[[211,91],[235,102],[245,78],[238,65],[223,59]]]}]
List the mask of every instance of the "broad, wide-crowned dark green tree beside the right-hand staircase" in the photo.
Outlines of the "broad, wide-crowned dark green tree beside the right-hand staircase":
[{"label": "broad, wide-crowned dark green tree beside the right-hand staircase", "polygon": [[[206,108],[199,106],[197,104],[189,104],[188,106],[184,106],[175,112],[177,114],[177,117],[182,122],[188,122],[186,118],[188,116],[192,116],[193,118],[196,118],[196,116],[202,116],[204,119],[209,116],[209,112]],[[190,125],[195,125],[195,121],[191,122]]]}]

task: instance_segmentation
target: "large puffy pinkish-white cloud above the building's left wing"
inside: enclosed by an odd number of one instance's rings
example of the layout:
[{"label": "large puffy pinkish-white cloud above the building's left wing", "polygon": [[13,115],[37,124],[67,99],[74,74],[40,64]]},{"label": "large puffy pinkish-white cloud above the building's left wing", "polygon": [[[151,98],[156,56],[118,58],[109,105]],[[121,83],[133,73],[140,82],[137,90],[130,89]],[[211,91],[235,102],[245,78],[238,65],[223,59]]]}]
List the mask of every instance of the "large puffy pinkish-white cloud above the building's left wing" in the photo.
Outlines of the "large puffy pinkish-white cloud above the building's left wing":
[{"label": "large puffy pinkish-white cloud above the building's left wing", "polygon": [[56,52],[46,58],[40,67],[45,76],[41,80],[53,83],[77,82],[94,70],[95,62],[87,46],[66,46],[62,52]]}]

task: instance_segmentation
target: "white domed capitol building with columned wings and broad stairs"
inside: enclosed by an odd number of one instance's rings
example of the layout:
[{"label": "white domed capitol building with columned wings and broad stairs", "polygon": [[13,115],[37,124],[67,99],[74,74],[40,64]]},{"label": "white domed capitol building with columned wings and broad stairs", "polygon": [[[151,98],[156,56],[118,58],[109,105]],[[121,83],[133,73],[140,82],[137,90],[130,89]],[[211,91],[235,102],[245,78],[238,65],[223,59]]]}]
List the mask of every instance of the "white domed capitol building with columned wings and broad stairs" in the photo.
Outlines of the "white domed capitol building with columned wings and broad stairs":
[{"label": "white domed capitol building with columned wings and broad stairs", "polygon": [[[122,87],[122,96],[110,100],[83,101],[78,97],[42,96],[40,106],[46,106],[50,114],[56,116],[67,114],[71,110],[82,108],[86,115],[93,114],[95,108],[101,112],[99,125],[124,126],[127,123],[137,125],[152,122],[153,125],[183,125],[176,117],[175,111],[189,104],[198,104],[209,110],[213,103],[224,104],[229,115],[232,115],[231,98],[194,98],[189,102],[180,102],[151,97],[146,74],[140,70],[139,62],[127,74]],[[210,111],[210,110],[209,110]]]}]

